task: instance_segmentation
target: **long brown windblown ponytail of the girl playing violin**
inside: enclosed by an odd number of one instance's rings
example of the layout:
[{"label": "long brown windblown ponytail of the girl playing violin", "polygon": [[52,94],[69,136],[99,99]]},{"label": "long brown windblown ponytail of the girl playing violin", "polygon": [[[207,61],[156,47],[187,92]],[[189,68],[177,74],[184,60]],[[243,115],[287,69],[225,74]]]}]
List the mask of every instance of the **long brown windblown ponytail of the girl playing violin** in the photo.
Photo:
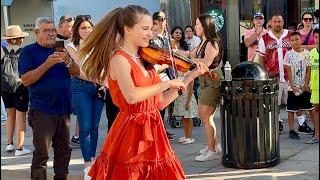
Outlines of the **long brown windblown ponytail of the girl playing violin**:
[{"label": "long brown windblown ponytail of the girl playing violin", "polygon": [[109,61],[116,48],[117,33],[124,36],[124,27],[132,28],[139,22],[138,14],[150,15],[138,5],[116,8],[105,15],[95,26],[90,36],[80,46],[79,57],[84,59],[82,70],[89,79],[104,80],[108,73]]}]

